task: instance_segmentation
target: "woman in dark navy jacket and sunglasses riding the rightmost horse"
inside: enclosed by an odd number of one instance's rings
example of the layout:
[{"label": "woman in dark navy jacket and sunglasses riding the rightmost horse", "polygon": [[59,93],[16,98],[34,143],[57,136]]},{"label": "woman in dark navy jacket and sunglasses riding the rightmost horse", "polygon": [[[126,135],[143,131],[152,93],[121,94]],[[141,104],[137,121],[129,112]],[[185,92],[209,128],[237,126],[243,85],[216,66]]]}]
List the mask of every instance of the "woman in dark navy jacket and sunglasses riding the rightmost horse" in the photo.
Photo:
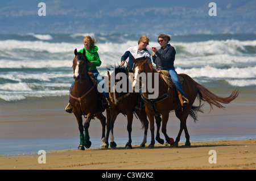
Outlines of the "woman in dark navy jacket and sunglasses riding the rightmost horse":
[{"label": "woman in dark navy jacket and sunglasses riding the rightmost horse", "polygon": [[151,48],[153,51],[152,59],[156,64],[156,68],[169,71],[172,82],[174,82],[177,90],[182,95],[183,106],[185,106],[185,104],[188,104],[188,99],[182,89],[179,79],[177,78],[177,73],[174,68],[176,51],[175,48],[171,46],[171,44],[168,44],[170,40],[171,37],[168,35],[158,36],[158,43],[160,44],[161,48],[159,50]]}]

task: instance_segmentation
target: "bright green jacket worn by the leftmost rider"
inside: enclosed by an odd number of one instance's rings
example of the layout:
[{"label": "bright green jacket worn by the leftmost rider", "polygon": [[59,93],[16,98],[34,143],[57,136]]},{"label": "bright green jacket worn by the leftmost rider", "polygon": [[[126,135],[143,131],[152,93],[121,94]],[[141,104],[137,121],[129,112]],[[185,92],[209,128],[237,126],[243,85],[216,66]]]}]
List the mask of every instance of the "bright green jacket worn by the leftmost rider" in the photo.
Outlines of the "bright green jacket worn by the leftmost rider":
[{"label": "bright green jacket worn by the leftmost rider", "polygon": [[90,50],[86,50],[85,47],[80,49],[79,52],[82,53],[82,50],[85,50],[85,56],[89,61],[93,62],[92,66],[87,66],[87,70],[94,70],[97,66],[101,66],[100,56],[98,56],[98,47],[93,46]]}]

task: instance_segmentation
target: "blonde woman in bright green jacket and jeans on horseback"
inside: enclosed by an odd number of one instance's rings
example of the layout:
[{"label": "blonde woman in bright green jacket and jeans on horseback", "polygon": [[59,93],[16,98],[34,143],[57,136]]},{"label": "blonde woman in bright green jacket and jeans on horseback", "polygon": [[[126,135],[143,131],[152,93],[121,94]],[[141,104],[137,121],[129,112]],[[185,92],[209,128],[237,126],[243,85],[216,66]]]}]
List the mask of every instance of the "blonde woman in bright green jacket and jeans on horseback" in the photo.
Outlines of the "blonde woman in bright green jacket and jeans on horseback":
[{"label": "blonde woman in bright green jacket and jeans on horseback", "polygon": [[[82,51],[85,50],[85,56],[89,60],[87,70],[94,74],[95,79],[98,81],[98,85],[102,88],[103,93],[106,98],[106,99],[104,99],[103,106],[107,107],[108,106],[107,99],[109,98],[109,94],[108,94],[108,92],[104,91],[105,81],[101,77],[100,73],[98,72],[98,70],[96,68],[97,66],[101,65],[100,56],[98,56],[98,52],[97,52],[98,47],[95,45],[97,43],[97,40],[93,39],[90,36],[85,36],[83,42],[84,42],[84,48],[79,50],[79,52],[82,53]],[[70,90],[72,89],[74,83],[75,82],[72,83]],[[68,103],[68,106],[65,108],[65,111],[72,113],[72,107],[71,107],[70,103]]]}]

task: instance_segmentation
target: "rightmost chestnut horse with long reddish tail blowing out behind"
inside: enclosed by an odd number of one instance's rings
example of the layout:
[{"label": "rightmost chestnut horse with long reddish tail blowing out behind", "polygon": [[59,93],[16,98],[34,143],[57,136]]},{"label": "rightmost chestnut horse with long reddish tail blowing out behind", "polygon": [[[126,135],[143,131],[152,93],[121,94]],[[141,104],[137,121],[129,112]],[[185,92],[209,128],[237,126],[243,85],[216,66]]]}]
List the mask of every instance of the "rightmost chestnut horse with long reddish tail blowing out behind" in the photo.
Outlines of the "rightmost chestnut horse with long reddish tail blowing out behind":
[{"label": "rightmost chestnut horse with long reddish tail blowing out behind", "polygon": [[[197,120],[197,111],[201,111],[200,108],[201,106],[201,100],[206,101],[207,103],[210,104],[211,109],[213,108],[212,106],[216,106],[218,108],[224,108],[221,103],[228,104],[232,100],[236,99],[239,91],[235,90],[232,92],[230,96],[227,98],[222,98],[220,96],[217,96],[207,90],[204,86],[200,85],[199,83],[195,82],[191,77],[189,77],[186,74],[179,74],[180,77],[182,77],[184,80],[182,82],[182,87],[185,92],[185,95],[187,95],[187,98],[189,100],[189,103],[186,106],[181,106],[181,102],[179,100],[179,96],[177,93],[177,90],[175,89],[174,86],[168,85],[166,81],[164,81],[164,78],[162,75],[156,71],[152,64],[148,64],[147,60],[141,60],[137,61],[134,60],[135,62],[135,67],[134,67],[134,73],[135,73],[135,78],[133,82],[133,86],[138,84],[138,75],[141,73],[146,73],[146,77],[148,77],[148,73],[152,73],[152,78],[148,79],[147,78],[147,83],[151,82],[153,87],[155,85],[154,79],[155,75],[158,77],[156,81],[159,83],[158,89],[158,98],[156,99],[148,99],[148,96],[152,95],[152,92],[149,92],[148,89],[146,89],[146,92],[142,94],[144,102],[145,102],[145,107],[146,107],[146,113],[148,116],[148,119],[150,120],[150,131],[151,131],[151,144],[149,148],[154,148],[155,140],[154,140],[154,114],[162,115],[162,132],[164,134],[164,137],[166,138],[166,141],[170,144],[173,143],[172,138],[168,137],[166,133],[166,125],[169,117],[169,112],[172,110],[175,110],[175,114],[177,118],[180,120],[180,131],[179,134],[177,135],[177,138],[174,142],[174,146],[177,146],[179,141],[180,141],[180,135],[181,132],[185,131],[185,138],[186,142],[185,145],[189,146],[189,134],[188,134],[188,129],[187,129],[187,117],[190,115],[195,121]],[[193,106],[193,103],[198,97],[200,100],[200,104],[198,107]],[[159,133],[157,133],[157,136]],[[159,138],[158,138],[159,139]]]}]

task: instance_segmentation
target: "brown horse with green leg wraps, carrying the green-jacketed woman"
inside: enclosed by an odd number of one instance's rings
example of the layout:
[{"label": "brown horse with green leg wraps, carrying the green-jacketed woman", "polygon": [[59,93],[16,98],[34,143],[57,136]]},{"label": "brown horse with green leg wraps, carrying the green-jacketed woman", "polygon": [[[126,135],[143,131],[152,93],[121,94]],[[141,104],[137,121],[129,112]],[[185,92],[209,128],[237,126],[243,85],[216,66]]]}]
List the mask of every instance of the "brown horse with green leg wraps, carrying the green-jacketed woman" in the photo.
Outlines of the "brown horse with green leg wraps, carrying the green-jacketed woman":
[{"label": "brown horse with green leg wraps, carrying the green-jacketed woman", "polygon": [[[75,58],[73,59],[73,71],[75,83],[70,92],[70,104],[73,113],[76,116],[80,131],[80,150],[90,148],[88,128],[90,120],[96,116],[102,124],[102,141],[105,141],[106,117],[102,114],[105,109],[102,107],[100,93],[97,91],[96,80],[89,76],[87,71],[88,59],[85,57],[85,51],[78,53],[75,49]],[[87,116],[84,125],[82,125],[82,116]],[[85,146],[85,148],[84,148]]]}]

